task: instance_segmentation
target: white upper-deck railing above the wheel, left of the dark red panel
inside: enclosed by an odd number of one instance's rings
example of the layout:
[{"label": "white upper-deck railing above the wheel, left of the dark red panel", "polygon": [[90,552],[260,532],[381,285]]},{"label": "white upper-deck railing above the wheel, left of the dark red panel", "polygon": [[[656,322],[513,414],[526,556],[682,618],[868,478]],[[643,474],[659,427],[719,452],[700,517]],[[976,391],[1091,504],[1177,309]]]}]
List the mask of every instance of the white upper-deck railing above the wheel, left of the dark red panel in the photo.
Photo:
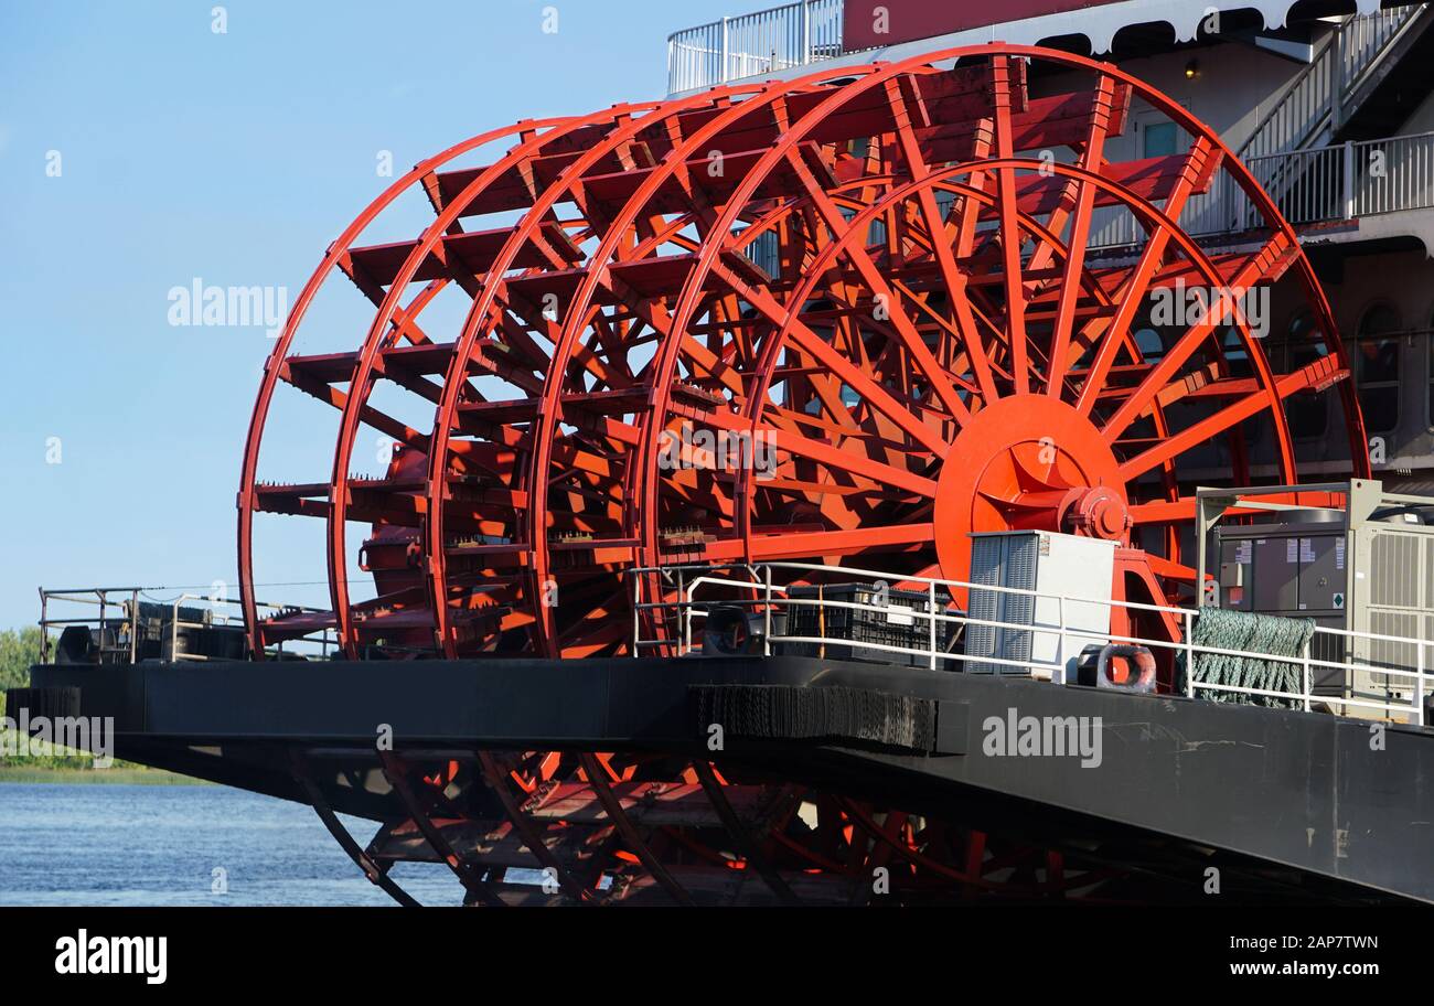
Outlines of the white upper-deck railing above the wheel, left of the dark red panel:
[{"label": "white upper-deck railing above the wheel, left of the dark red panel", "polygon": [[667,39],[668,93],[760,77],[839,56],[842,3],[799,0],[673,33]]}]

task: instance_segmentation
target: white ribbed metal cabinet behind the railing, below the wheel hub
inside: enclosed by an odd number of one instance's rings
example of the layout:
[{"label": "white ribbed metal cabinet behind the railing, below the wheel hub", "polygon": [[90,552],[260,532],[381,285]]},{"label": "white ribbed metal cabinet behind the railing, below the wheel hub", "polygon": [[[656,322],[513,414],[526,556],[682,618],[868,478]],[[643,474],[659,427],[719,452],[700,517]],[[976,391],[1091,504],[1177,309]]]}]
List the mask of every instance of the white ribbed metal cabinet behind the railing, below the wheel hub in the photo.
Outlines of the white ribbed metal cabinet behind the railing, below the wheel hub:
[{"label": "white ribbed metal cabinet behind the railing, below the wheel hub", "polygon": [[1116,542],[1040,530],[972,535],[971,583],[979,586],[968,616],[1011,628],[968,623],[965,671],[1076,681],[1081,649],[1110,635]]}]

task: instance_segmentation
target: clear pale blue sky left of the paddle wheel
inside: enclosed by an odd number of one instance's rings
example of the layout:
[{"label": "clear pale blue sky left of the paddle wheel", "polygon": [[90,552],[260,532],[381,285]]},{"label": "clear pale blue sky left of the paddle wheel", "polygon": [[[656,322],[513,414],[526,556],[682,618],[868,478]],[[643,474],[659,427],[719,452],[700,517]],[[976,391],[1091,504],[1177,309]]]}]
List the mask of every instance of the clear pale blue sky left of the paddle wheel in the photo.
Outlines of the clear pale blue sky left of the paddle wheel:
[{"label": "clear pale blue sky left of the paddle wheel", "polygon": [[[379,150],[402,173],[516,119],[661,97],[670,32],[764,4],[231,0],[222,34],[214,6],[0,1],[0,628],[36,621],[40,585],[235,578],[270,341],[172,327],[174,287],[285,285],[293,300],[387,185]],[[330,426],[294,433],[331,451]],[[284,535],[261,539],[260,580],[323,579],[318,539]]]}]

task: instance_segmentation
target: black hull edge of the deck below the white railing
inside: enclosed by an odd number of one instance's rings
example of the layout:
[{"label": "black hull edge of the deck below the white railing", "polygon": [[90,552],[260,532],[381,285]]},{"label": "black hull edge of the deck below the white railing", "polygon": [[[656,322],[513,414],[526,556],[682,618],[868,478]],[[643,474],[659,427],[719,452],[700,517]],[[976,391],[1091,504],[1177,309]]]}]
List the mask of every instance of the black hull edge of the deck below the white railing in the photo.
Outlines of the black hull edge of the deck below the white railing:
[{"label": "black hull edge of the deck below the white railing", "polygon": [[[693,688],[731,685],[908,696],[934,704],[948,739],[918,752],[730,737],[713,752]],[[191,774],[224,770],[231,784],[250,771],[234,764],[241,752],[250,764],[300,744],[363,754],[380,728],[400,747],[671,751],[935,808],[1020,805],[1434,901],[1434,734],[1412,727],[794,656],[39,666],[32,686],[79,688],[85,715],[113,717],[120,757],[188,752]],[[992,739],[1012,717],[1098,724],[1098,764],[1001,749]],[[277,774],[250,785],[285,787]]]}]

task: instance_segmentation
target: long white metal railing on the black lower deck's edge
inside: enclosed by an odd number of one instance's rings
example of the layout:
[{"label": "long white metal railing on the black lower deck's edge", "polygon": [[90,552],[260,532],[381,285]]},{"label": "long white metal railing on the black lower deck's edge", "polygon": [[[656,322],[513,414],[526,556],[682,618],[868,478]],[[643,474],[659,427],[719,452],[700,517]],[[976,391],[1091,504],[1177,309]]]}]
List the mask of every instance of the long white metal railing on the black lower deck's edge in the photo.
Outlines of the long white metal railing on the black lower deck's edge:
[{"label": "long white metal railing on the black lower deck's edge", "polygon": [[[961,665],[981,664],[981,665],[1001,665],[1010,666],[1015,672],[1027,672],[1030,676],[1041,681],[1051,681],[1054,684],[1067,684],[1065,666],[1070,662],[1068,653],[1080,653],[1091,643],[1098,643],[1101,646],[1110,643],[1130,643],[1136,646],[1143,646],[1150,651],[1172,651],[1173,655],[1183,655],[1186,668],[1186,684],[1184,694],[1189,698],[1199,698],[1202,694],[1209,692],[1229,692],[1246,696],[1263,696],[1272,699],[1282,699],[1295,705],[1299,705],[1306,712],[1312,709],[1315,704],[1325,704],[1328,706],[1338,706],[1344,715],[1349,715],[1351,709],[1369,709],[1382,714],[1387,718],[1394,717],[1408,717],[1410,722],[1424,725],[1424,696],[1430,691],[1434,682],[1430,681],[1427,674],[1427,658],[1425,648],[1434,646],[1434,642],[1425,639],[1410,639],[1404,636],[1388,636],[1374,632],[1354,632],[1347,629],[1334,629],[1325,626],[1315,626],[1314,638],[1305,643],[1304,651],[1299,656],[1272,656],[1271,653],[1262,653],[1256,651],[1243,649],[1225,649],[1219,646],[1207,646],[1203,643],[1195,643],[1195,625],[1199,619],[1199,612],[1189,608],[1166,608],[1160,605],[1143,605],[1127,600],[1101,600],[1094,598],[1073,596],[1073,595],[1055,595],[1055,593],[1041,593],[1037,590],[1024,590],[1018,588],[1004,588],[994,586],[988,583],[968,583],[964,580],[945,580],[928,576],[903,576],[882,570],[872,569],[855,569],[849,566],[822,566],[813,563],[796,563],[796,562],[773,562],[773,563],[757,563],[757,565],[673,565],[673,566],[645,566],[630,569],[630,589],[632,600],[632,636],[631,636],[631,652],[632,656],[641,656],[644,651],[651,651],[654,648],[661,648],[675,652],[677,656],[685,656],[700,652],[700,645],[694,648],[693,645],[693,622],[694,619],[706,619],[708,616],[708,609],[718,606],[736,606],[736,608],[750,608],[754,613],[760,615],[763,619],[763,653],[770,656],[773,653],[773,645],[782,643],[810,643],[819,645],[822,648],[832,648],[840,651],[843,648],[852,651],[876,651],[883,653],[891,653],[892,656],[906,656],[906,658],[923,658],[926,666],[931,669],[945,669],[955,665],[955,669],[962,669]],[[820,575],[846,575],[860,579],[865,583],[916,583],[922,585],[926,592],[926,610],[918,610],[915,608],[905,608],[892,603],[873,605],[852,600],[835,600],[827,598],[794,598],[790,593],[794,583],[792,580],[810,579],[813,573]],[[661,596],[657,599],[647,599],[644,595],[642,583],[644,580],[651,580],[660,578],[665,585],[664,595],[671,595],[671,599]],[[783,580],[789,580],[783,583]],[[737,592],[750,593],[750,598],[724,598],[713,600],[697,600],[695,593],[700,588],[723,588],[728,592],[737,589]],[[997,619],[981,619],[968,615],[967,612],[952,609],[952,606],[945,602],[938,593],[945,589],[946,596],[952,590],[988,590],[995,593],[1008,595],[1022,595],[1032,598],[1035,602],[1047,600],[1054,602],[1057,609],[1057,618],[1054,625],[1048,623],[1032,623],[1032,622],[1005,622]],[[1094,632],[1090,629],[1081,629],[1070,625],[1067,618],[1073,605],[1083,606],[1103,606],[1114,612],[1116,609],[1123,609],[1127,612],[1146,612],[1170,615],[1179,619],[1183,626],[1183,639],[1180,642],[1173,642],[1170,639],[1149,639],[1141,636],[1126,636],[1114,632]],[[872,642],[858,638],[839,638],[830,636],[825,632],[820,635],[793,635],[787,632],[776,631],[776,619],[773,618],[779,612],[790,613],[793,608],[809,606],[817,608],[819,610],[863,610],[875,615],[883,615],[888,619],[893,612],[899,613],[902,619],[909,619],[913,622],[925,622],[928,625],[928,632],[925,633],[925,645],[921,646],[901,646],[892,643]],[[642,638],[644,623],[665,622],[667,625],[677,629],[675,636],[661,638],[661,639],[645,639]],[[826,619],[817,619],[817,625],[825,625]],[[1018,632],[1030,632],[1040,636],[1055,636],[1057,648],[1055,658],[1053,661],[1030,661],[1030,659],[1015,659],[1010,656],[987,655],[987,653],[965,653],[961,651],[946,649],[944,641],[946,633],[938,631],[938,625],[946,626],[988,626],[992,629],[1014,629]],[[855,635],[855,633],[853,633]],[[1319,636],[1332,636],[1344,645],[1352,645],[1358,641],[1364,642],[1390,642],[1402,646],[1412,646],[1412,652],[1417,653],[1415,668],[1395,668],[1395,666],[1377,666],[1371,664],[1362,664],[1357,661],[1328,661],[1315,658],[1312,652],[1318,648],[1315,639]],[[1073,646],[1074,645],[1074,646]],[[1199,656],[1236,656],[1255,661],[1273,661],[1279,664],[1298,665],[1301,669],[1301,688],[1299,691],[1276,691],[1265,688],[1248,688],[1243,685],[1226,685],[1209,681],[1197,681],[1196,672],[1199,669]],[[1387,698],[1378,699],[1372,698],[1364,692],[1354,692],[1345,695],[1324,695],[1315,691],[1315,676],[1319,672],[1338,671],[1344,674],[1345,682],[1354,681],[1354,674],[1368,674],[1368,675],[1384,675],[1385,679],[1398,679],[1408,685],[1408,696],[1397,696],[1392,689],[1387,691]],[[1347,692],[1349,688],[1347,685]]]}]

